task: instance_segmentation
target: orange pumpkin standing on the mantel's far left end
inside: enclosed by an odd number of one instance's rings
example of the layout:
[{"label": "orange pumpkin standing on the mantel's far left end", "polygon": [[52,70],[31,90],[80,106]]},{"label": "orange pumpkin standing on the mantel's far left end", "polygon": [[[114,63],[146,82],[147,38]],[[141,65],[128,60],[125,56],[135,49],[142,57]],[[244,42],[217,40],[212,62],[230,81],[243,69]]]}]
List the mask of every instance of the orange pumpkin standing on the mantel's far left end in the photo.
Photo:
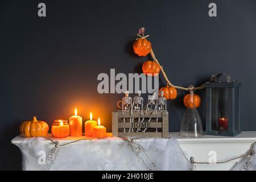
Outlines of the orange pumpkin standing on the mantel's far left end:
[{"label": "orange pumpkin standing on the mantel's far left end", "polygon": [[19,131],[23,137],[44,137],[49,131],[49,126],[44,121],[38,121],[34,116],[32,121],[24,121]]}]

